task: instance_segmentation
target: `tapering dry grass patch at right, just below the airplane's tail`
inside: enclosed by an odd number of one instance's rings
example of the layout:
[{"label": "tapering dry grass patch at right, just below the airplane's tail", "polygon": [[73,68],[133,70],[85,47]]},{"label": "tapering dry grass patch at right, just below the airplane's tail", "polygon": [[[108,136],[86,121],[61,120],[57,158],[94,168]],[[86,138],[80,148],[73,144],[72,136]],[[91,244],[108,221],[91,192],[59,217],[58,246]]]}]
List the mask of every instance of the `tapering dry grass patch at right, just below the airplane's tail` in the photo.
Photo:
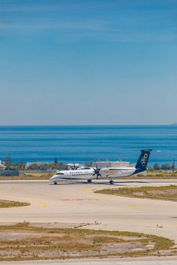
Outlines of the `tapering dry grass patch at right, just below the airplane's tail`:
[{"label": "tapering dry grass patch at right, just below the airplane's tail", "polygon": [[136,198],[164,199],[177,202],[177,185],[162,187],[113,188],[97,190],[96,193]]}]

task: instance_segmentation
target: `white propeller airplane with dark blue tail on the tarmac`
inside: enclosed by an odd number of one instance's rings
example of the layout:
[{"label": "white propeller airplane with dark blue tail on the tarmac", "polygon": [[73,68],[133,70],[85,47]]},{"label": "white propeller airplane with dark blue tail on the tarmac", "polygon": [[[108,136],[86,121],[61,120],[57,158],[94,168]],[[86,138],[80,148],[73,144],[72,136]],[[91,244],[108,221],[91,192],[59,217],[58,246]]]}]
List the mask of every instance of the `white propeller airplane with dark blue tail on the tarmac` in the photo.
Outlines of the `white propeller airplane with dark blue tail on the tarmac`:
[{"label": "white propeller airplane with dark blue tail on the tarmac", "polygon": [[87,180],[88,183],[92,182],[92,179],[110,179],[110,183],[113,184],[113,179],[118,179],[123,176],[132,176],[139,174],[147,170],[148,159],[150,152],[153,149],[141,150],[139,160],[136,162],[135,167],[104,167],[98,169],[97,167],[73,167],[73,170],[64,170],[57,172],[51,177],[55,185],[59,181],[72,181],[72,180]]}]

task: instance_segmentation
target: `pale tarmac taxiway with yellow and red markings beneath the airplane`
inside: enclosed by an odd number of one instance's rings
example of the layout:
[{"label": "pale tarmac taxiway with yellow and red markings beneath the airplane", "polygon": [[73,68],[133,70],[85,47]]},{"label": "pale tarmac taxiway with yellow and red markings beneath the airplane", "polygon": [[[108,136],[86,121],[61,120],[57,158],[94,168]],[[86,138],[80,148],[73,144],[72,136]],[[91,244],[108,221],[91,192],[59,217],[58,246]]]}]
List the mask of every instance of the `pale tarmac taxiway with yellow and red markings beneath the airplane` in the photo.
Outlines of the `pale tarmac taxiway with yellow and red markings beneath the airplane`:
[{"label": "pale tarmac taxiway with yellow and red markings beneath the airplane", "polygon": [[[177,202],[94,193],[95,190],[118,188],[118,186],[172,184],[177,184],[177,180],[122,180],[115,185],[109,185],[106,181],[59,185],[52,185],[49,181],[1,181],[0,199],[29,202],[31,205],[0,209],[0,223],[23,222],[24,220],[26,222],[51,222],[56,223],[54,224],[56,226],[59,223],[68,225],[89,223],[90,225],[85,228],[156,234],[174,239],[177,243]],[[38,262],[33,264],[38,264]],[[120,262],[112,264],[122,265]],[[141,262],[141,264],[144,263]]]}]

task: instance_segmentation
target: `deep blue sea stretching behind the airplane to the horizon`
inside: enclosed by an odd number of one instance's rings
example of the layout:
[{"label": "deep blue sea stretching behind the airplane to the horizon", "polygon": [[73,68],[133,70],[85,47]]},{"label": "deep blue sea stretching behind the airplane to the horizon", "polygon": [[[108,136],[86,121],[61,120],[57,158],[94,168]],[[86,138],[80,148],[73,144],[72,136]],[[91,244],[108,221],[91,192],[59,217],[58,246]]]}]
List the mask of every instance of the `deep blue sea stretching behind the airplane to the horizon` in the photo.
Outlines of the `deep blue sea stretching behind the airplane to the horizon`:
[{"label": "deep blue sea stretching behind the airplane to the horizon", "polygon": [[0,126],[0,160],[136,162],[134,149],[155,149],[150,165],[177,159],[177,126]]}]

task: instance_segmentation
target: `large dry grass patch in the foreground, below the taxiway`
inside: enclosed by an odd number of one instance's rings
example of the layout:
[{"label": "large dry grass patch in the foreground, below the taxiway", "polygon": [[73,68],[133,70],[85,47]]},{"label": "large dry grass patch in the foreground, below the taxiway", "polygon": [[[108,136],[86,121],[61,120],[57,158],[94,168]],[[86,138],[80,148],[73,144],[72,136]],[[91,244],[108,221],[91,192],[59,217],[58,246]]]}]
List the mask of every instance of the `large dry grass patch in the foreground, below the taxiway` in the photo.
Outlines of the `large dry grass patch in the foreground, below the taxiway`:
[{"label": "large dry grass patch in the foreground, below the taxiway", "polygon": [[[4,235],[8,235],[10,240],[4,239]],[[0,226],[0,261],[140,257],[156,255],[157,251],[172,253],[173,246],[174,241],[169,239],[133,232],[49,229],[32,227],[27,222]]]}]

